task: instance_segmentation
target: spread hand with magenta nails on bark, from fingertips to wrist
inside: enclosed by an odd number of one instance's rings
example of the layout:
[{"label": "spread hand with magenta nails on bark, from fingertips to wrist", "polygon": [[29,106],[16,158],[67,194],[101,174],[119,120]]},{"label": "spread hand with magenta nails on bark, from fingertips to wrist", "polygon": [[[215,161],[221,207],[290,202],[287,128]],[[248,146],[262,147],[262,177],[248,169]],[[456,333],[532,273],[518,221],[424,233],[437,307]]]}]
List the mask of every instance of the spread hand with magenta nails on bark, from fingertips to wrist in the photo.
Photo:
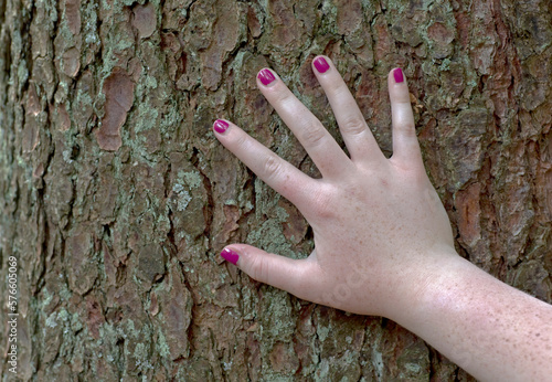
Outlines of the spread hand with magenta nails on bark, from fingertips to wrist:
[{"label": "spread hand with magenta nails on bark, from fingertips to wrist", "polygon": [[[422,162],[402,70],[389,74],[393,156],[378,147],[346,83],[326,56],[312,70],[330,102],[350,158],[283,81],[264,68],[257,86],[322,174],[312,179],[226,120],[216,138],[304,214],[315,235],[308,258],[291,259],[245,244],[221,255],[256,280],[338,309],[396,319],[457,256],[448,216]],[[401,308],[399,308],[401,307]]]}]

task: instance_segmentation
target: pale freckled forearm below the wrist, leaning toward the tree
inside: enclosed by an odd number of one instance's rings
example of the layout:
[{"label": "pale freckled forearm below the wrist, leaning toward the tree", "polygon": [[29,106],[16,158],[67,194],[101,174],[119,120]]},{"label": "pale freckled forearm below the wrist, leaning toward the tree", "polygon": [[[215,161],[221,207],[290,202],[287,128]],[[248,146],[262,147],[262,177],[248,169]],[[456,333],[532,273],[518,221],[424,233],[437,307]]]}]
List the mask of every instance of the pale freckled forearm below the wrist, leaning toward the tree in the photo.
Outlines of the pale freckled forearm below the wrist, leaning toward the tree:
[{"label": "pale freckled forearm below the wrist, leaning toward the tree", "polygon": [[394,320],[480,380],[551,380],[552,306],[459,256],[443,259]]}]

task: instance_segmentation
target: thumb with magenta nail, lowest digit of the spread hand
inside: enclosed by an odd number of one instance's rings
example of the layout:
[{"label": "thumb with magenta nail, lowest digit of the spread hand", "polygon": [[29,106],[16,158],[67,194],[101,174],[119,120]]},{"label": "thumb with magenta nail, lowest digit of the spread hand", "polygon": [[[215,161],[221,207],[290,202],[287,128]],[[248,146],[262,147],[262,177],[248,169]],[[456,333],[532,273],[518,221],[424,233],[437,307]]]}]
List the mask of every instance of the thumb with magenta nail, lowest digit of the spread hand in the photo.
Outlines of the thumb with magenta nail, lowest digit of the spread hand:
[{"label": "thumb with magenta nail, lowest digit of the spread hand", "polygon": [[221,256],[237,265],[257,282],[287,290],[297,297],[312,300],[317,263],[311,257],[294,259],[275,255],[246,244],[232,244],[221,252]]}]

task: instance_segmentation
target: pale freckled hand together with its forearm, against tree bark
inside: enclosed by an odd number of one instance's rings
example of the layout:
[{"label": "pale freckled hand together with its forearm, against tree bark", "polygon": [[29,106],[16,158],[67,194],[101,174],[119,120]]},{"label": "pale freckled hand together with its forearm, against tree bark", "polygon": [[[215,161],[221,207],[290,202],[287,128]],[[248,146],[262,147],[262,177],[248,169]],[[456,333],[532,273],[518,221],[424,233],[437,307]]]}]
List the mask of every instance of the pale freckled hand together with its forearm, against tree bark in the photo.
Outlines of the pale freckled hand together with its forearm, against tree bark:
[{"label": "pale freckled hand together with its forearm, against tree bark", "polygon": [[397,70],[390,72],[393,156],[386,159],[331,60],[318,56],[314,63],[320,57],[328,67],[321,73],[314,64],[312,71],[350,156],[274,72],[263,70],[257,77],[320,179],[231,121],[214,126],[224,147],[304,214],[315,250],[291,259],[231,244],[223,257],[299,298],[388,317],[479,380],[552,380],[552,306],[456,253],[448,216],[424,169],[406,81],[395,79]]}]

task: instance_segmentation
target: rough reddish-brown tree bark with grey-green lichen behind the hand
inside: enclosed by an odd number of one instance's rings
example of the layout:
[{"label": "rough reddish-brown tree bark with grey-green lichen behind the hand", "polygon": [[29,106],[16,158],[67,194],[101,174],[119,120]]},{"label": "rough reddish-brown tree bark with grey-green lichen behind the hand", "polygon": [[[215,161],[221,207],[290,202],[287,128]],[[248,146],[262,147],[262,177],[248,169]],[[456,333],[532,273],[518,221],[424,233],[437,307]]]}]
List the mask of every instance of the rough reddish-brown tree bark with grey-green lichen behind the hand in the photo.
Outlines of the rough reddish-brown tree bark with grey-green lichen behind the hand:
[{"label": "rough reddish-brown tree bark with grey-green lichen behind the hand", "polygon": [[416,336],[253,282],[219,251],[311,251],[297,210],[211,132],[317,170],[255,87],[270,66],[339,140],[336,62],[391,155],[408,77],[459,253],[552,303],[552,2],[0,0],[0,373],[18,380],[470,380]]}]

